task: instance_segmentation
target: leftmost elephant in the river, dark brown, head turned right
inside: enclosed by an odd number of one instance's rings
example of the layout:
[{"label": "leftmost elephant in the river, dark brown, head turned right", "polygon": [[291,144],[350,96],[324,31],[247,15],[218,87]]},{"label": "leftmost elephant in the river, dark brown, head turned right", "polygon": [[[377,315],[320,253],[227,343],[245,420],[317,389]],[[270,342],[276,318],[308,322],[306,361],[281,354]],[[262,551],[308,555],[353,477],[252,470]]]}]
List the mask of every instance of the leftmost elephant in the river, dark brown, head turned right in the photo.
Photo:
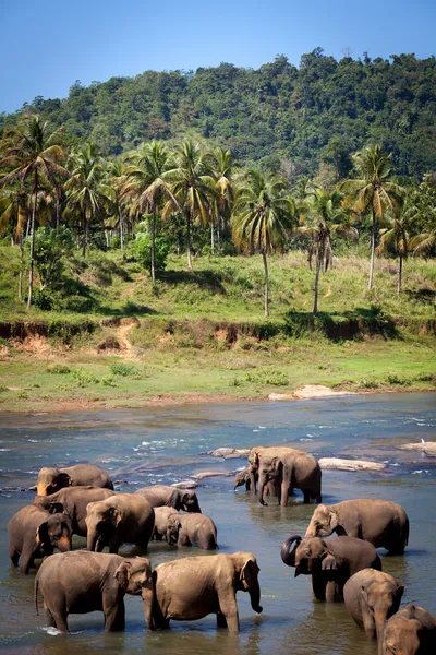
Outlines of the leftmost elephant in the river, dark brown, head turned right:
[{"label": "leftmost elephant in the river, dark brown, head turned right", "polygon": [[58,548],[71,550],[72,521],[68,514],[50,514],[35,505],[25,505],[8,523],[9,557],[14,567],[28,573],[35,559],[45,558]]}]

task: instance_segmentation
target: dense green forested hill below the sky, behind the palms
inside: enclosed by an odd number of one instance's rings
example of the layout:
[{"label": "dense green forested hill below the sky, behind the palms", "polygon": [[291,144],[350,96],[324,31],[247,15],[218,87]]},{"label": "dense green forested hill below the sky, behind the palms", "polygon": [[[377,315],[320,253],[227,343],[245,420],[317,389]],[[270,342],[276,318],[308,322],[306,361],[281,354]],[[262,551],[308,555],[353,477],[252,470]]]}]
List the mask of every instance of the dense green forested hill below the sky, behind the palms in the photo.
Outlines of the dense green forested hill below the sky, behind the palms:
[{"label": "dense green forested hill below the sky, behind the palms", "polygon": [[313,175],[327,162],[342,177],[350,153],[368,142],[393,153],[398,174],[421,178],[436,169],[433,56],[336,61],[317,48],[299,68],[278,56],[258,70],[221,63],[88,87],[76,82],[66,99],[37,97],[22,111],[29,109],[106,154],[194,133],[230,147],[242,162],[278,168],[284,159],[296,175]]}]

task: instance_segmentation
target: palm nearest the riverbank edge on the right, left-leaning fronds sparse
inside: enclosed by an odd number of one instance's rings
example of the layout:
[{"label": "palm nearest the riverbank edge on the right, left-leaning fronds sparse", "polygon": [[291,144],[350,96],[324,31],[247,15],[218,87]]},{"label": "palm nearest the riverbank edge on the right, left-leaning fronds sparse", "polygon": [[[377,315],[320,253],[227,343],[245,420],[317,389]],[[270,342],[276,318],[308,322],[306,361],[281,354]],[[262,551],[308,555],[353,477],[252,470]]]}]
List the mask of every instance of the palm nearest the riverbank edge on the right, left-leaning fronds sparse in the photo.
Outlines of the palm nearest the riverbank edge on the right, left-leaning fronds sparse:
[{"label": "palm nearest the riverbank edge on the right, left-leaning fronds sparse", "polygon": [[341,200],[342,196],[337,191],[329,193],[325,189],[315,189],[310,193],[306,211],[303,211],[301,217],[303,225],[299,227],[299,231],[310,239],[311,271],[315,259],[314,314],[318,312],[319,275],[322,272],[326,273],[332,263],[331,236],[358,236],[355,227],[348,222],[350,212],[341,206]]}]

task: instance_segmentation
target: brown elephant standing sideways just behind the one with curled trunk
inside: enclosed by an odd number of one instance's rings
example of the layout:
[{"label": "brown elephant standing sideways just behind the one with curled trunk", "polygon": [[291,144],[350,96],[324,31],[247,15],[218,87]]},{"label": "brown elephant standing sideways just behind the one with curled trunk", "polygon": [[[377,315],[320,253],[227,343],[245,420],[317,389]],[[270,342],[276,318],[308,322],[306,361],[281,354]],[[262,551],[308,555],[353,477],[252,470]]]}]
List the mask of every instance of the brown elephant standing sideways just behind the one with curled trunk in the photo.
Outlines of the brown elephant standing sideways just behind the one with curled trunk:
[{"label": "brown elephant standing sideways just behind the one with curled trunk", "polygon": [[390,500],[360,498],[316,508],[306,537],[328,537],[332,532],[370,541],[390,553],[401,555],[409,540],[409,519]]}]

